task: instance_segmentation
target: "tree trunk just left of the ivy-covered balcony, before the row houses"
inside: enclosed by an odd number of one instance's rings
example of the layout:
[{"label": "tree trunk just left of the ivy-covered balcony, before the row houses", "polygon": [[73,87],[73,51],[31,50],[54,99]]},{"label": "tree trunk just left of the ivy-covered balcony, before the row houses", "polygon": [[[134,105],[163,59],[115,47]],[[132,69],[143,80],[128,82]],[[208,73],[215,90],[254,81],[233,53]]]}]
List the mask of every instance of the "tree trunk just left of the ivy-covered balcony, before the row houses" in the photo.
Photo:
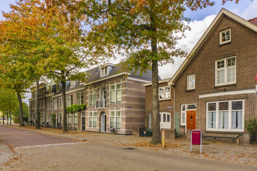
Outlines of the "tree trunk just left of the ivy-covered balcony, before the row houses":
[{"label": "tree trunk just left of the ivy-covered balcony, before the row houses", "polygon": [[62,133],[67,133],[67,112],[66,112],[66,78],[62,76],[61,78],[62,84]]}]

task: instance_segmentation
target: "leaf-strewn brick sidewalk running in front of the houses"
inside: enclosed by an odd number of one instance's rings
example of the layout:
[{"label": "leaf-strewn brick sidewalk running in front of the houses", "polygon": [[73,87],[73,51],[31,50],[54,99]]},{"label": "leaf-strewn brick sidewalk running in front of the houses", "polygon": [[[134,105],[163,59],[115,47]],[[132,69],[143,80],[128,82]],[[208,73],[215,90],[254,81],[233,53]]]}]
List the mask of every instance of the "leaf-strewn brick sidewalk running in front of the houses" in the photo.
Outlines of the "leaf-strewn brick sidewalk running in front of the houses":
[{"label": "leaf-strewn brick sidewalk running in front of the houses", "polygon": [[[13,124],[12,127],[19,129],[27,129],[34,132],[40,132],[49,135],[61,136],[66,138],[98,142],[98,143],[108,143],[115,145],[131,145],[135,142],[147,142],[150,141],[150,137],[136,137],[132,135],[110,135],[106,133],[95,133],[95,132],[78,132],[69,131],[68,134],[52,133],[53,128],[43,128],[40,130],[35,130],[33,127],[21,128],[17,124]],[[214,143],[214,142],[203,142],[202,153],[200,154],[200,146],[192,145],[192,152],[190,141],[186,140],[185,137],[179,137],[178,139],[166,139],[168,143],[178,143],[179,146],[168,147],[168,148],[150,148],[150,147],[133,147],[133,148],[146,148],[149,150],[162,150],[168,153],[179,153],[188,156],[197,156],[203,158],[221,159],[232,162],[246,163],[246,164],[256,164],[257,163],[257,146],[252,145],[236,145],[230,143]],[[1,162],[1,160],[0,160]]]}]

